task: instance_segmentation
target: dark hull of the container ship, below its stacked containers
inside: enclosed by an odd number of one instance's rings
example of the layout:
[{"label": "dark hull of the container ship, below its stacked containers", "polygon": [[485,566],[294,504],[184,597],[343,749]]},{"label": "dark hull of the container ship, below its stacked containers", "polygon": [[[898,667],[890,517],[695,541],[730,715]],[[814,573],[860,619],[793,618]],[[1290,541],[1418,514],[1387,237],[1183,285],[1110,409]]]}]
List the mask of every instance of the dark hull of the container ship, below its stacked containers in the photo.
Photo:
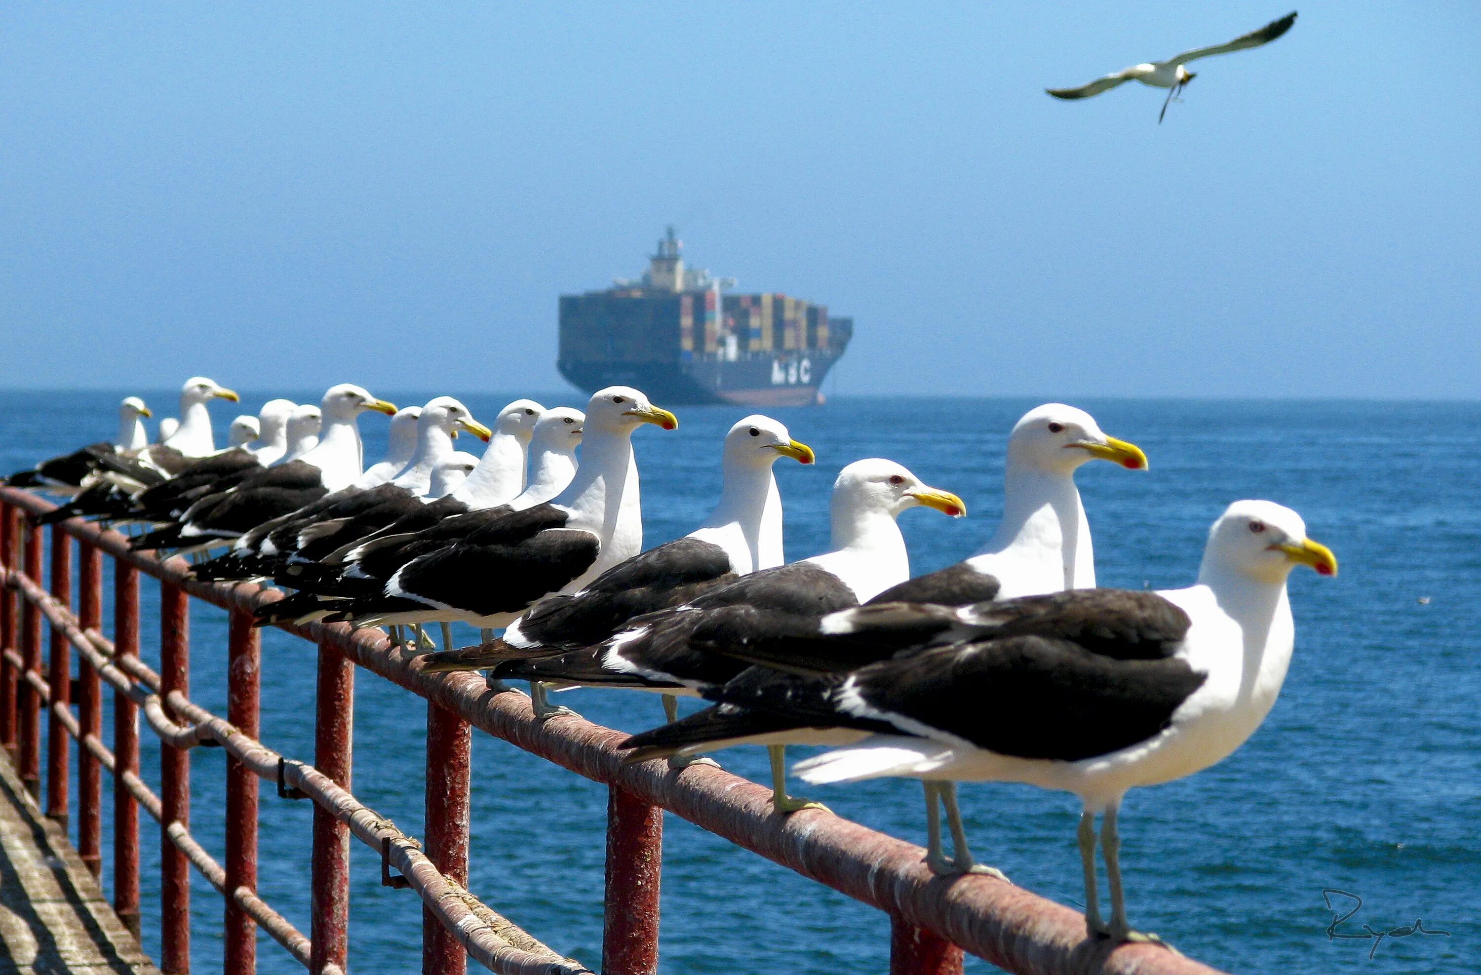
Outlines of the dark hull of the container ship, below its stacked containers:
[{"label": "dark hull of the container ship, below its stacked containers", "polygon": [[838,362],[829,350],[751,354],[745,359],[693,359],[689,362],[584,362],[557,363],[567,381],[595,393],[609,385],[643,390],[655,403],[739,406],[810,406],[828,370]]}]

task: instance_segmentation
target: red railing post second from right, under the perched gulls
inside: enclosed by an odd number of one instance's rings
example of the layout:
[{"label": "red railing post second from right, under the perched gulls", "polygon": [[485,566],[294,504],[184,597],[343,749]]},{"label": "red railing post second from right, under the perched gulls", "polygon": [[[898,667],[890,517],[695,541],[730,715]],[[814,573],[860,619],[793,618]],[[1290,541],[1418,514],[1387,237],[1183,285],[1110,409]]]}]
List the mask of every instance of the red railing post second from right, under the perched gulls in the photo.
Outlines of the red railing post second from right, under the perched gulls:
[{"label": "red railing post second from right, under the perched gulls", "polygon": [[658,972],[658,886],[662,868],[663,811],[610,785],[603,975]]}]

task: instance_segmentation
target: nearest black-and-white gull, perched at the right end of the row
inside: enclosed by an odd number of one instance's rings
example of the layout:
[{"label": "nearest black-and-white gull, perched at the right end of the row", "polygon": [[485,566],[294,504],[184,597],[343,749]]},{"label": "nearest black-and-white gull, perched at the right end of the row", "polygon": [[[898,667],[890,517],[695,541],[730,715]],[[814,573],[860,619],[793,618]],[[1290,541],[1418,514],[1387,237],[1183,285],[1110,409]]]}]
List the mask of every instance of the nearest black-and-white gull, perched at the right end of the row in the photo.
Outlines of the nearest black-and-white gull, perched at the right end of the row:
[{"label": "nearest black-and-white gull, perched at the right end of the row", "polygon": [[[798,763],[806,782],[911,776],[1077,794],[1089,932],[1157,941],[1127,925],[1117,811],[1130,788],[1222,762],[1269,714],[1296,642],[1286,579],[1297,565],[1337,575],[1337,559],[1306,536],[1299,514],[1235,501],[1210,529],[1188,588],[936,608],[976,633],[846,674],[754,668],[749,688],[727,692],[745,707],[871,732]],[[1094,879],[1096,813],[1109,923]]]}]

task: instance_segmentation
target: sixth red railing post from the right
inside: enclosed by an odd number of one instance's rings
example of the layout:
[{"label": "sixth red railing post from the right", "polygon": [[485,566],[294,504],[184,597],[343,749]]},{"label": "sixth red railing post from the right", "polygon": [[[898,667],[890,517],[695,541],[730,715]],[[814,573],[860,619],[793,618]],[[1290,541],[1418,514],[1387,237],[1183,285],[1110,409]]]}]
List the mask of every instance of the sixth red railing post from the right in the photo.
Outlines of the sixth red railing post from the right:
[{"label": "sixth red railing post from the right", "polygon": [[[190,599],[160,584],[160,696],[190,696]],[[169,713],[169,707],[166,705]],[[176,719],[179,716],[175,716]],[[169,825],[190,827],[190,751],[160,745],[160,932],[164,975],[190,972],[190,861],[170,840]]]}]

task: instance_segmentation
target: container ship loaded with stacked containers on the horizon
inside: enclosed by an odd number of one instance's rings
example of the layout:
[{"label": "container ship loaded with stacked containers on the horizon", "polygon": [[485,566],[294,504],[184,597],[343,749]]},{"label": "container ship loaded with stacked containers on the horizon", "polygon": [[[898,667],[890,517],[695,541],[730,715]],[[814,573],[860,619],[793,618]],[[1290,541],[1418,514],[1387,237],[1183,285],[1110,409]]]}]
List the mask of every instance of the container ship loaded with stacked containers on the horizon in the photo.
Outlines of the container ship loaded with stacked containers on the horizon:
[{"label": "container ship loaded with stacked containers on the horizon", "polygon": [[641,280],[560,298],[560,359],[594,393],[632,385],[656,403],[807,406],[853,338],[853,319],[786,295],[729,293],[686,268],[669,227]]}]

